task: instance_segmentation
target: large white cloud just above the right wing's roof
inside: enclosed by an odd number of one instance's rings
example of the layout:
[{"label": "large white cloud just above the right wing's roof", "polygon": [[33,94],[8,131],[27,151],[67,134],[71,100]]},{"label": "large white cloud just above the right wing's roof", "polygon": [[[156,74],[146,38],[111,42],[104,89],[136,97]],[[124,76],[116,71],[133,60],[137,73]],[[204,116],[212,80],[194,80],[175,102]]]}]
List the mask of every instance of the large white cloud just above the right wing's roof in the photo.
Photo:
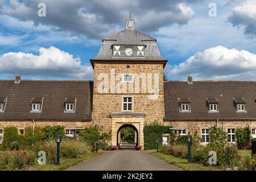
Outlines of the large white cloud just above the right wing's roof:
[{"label": "large white cloud just above the right wing's roof", "polygon": [[205,49],[175,65],[168,73],[171,78],[185,79],[188,75],[196,80],[255,80],[256,55],[223,46]]}]

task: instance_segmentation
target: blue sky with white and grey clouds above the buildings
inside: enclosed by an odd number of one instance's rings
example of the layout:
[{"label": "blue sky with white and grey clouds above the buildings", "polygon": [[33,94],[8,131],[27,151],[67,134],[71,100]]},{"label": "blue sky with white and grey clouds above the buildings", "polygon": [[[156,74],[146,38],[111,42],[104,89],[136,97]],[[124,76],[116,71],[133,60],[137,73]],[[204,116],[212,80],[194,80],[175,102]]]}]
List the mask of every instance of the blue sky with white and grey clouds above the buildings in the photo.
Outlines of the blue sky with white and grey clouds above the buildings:
[{"label": "blue sky with white and grey clouds above the buildings", "polygon": [[255,0],[0,0],[0,79],[93,80],[89,59],[130,11],[168,80],[256,80]]}]

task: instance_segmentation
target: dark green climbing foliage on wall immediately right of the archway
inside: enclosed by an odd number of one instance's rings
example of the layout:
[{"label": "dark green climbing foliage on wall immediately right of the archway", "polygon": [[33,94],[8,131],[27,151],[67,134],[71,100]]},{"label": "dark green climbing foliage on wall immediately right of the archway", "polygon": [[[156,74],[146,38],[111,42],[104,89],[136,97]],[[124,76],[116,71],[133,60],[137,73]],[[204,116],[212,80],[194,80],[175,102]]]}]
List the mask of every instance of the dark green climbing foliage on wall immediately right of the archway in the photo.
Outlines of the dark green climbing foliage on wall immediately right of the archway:
[{"label": "dark green climbing foliage on wall immediately right of the archway", "polygon": [[149,125],[146,124],[143,129],[144,133],[144,150],[151,150],[156,148],[156,140],[159,141],[159,146],[162,145],[162,135],[170,133],[171,126],[163,126],[154,121]]}]

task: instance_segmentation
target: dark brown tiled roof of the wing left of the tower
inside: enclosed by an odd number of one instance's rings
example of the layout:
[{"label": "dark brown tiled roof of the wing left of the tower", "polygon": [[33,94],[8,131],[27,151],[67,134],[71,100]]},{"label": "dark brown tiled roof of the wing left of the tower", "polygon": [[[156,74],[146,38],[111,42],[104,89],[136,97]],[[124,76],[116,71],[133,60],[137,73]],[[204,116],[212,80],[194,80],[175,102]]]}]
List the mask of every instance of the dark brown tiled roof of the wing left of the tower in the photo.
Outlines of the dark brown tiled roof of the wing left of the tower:
[{"label": "dark brown tiled roof of the wing left of the tower", "polygon": [[[90,121],[92,90],[92,81],[0,80],[0,100],[7,97],[0,120]],[[76,98],[75,113],[64,113],[66,98]],[[31,112],[31,101],[42,100],[42,111]]]}]

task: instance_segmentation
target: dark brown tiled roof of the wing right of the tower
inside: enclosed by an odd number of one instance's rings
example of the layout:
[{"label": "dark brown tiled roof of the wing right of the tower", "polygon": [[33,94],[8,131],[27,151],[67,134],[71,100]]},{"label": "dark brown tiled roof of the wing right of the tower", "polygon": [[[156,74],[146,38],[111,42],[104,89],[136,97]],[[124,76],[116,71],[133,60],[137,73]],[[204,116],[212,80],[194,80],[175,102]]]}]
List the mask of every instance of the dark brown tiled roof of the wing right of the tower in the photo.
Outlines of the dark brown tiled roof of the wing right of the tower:
[{"label": "dark brown tiled roof of the wing right of the tower", "polygon": [[[179,98],[189,98],[191,112],[180,112]],[[207,98],[216,98],[218,112],[209,112]],[[237,102],[246,112],[237,112]],[[164,82],[164,121],[256,120],[256,81],[167,81]]]}]

